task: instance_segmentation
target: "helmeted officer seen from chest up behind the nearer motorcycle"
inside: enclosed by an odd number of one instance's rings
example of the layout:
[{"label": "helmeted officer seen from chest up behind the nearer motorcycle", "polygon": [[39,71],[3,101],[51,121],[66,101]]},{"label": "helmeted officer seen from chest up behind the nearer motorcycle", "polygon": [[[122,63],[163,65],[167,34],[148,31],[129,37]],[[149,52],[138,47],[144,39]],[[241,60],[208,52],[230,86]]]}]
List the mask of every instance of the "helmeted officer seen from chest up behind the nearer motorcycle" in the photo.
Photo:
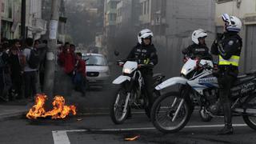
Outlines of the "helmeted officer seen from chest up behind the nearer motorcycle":
[{"label": "helmeted officer seen from chest up behind the nearer motorcycle", "polygon": [[205,30],[198,29],[194,30],[192,33],[192,42],[193,44],[188,46],[186,49],[182,50],[182,54],[194,59],[194,58],[203,58],[203,59],[212,59],[212,56],[209,53],[209,49],[206,46],[205,38],[207,33]]}]

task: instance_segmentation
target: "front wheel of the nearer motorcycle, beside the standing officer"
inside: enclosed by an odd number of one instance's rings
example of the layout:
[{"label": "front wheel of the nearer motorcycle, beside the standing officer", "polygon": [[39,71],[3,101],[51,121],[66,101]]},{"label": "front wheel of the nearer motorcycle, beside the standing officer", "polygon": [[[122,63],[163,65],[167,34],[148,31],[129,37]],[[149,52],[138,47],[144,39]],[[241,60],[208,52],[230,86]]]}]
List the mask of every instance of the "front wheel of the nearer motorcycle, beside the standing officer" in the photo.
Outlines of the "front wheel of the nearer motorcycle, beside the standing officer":
[{"label": "front wheel of the nearer motorcycle, beside the standing officer", "polygon": [[163,94],[152,106],[151,121],[162,133],[176,133],[190,120],[192,110],[178,95],[178,92]]}]

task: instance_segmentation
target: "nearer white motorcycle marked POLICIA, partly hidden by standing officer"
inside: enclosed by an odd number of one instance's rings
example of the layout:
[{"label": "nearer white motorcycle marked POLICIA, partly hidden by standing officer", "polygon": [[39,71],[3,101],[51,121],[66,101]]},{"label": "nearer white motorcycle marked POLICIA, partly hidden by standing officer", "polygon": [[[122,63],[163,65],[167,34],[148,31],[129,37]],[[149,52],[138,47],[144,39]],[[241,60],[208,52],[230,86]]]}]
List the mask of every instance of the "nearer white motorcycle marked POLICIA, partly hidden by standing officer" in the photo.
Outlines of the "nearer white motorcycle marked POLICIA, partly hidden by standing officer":
[{"label": "nearer white motorcycle marked POLICIA, partly hidden by standing officer", "polygon": [[[175,133],[189,122],[194,106],[202,106],[211,117],[222,116],[218,98],[218,80],[214,77],[213,62],[189,59],[182,67],[183,77],[174,77],[155,87],[162,90],[181,86],[158,97],[151,111],[151,121],[163,133]],[[191,77],[186,78],[187,75]],[[256,73],[241,75],[231,88],[231,109],[241,115],[250,128],[256,130]]]}]

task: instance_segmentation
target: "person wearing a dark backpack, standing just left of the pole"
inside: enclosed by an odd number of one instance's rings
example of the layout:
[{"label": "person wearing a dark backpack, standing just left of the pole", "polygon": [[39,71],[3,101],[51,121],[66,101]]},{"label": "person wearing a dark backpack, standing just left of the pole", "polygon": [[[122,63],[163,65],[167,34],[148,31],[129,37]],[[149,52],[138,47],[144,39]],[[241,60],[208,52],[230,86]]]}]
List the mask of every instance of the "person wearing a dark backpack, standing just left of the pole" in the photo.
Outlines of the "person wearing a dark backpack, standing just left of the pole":
[{"label": "person wearing a dark backpack, standing just left of the pole", "polygon": [[26,38],[26,48],[23,50],[25,98],[31,100],[37,94],[36,83],[40,62],[38,50],[33,47],[34,39]]}]

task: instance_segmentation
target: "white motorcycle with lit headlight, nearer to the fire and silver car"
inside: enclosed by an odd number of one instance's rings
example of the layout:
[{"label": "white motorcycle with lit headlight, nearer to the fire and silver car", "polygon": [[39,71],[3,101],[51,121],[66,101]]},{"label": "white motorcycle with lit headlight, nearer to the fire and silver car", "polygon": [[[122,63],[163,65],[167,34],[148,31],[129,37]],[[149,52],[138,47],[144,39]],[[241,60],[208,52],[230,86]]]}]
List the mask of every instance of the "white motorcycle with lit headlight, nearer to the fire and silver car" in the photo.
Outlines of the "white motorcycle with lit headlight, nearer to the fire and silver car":
[{"label": "white motorcycle with lit headlight, nearer to the fire and silver car", "polygon": [[[149,98],[146,94],[145,83],[140,71],[140,67],[150,66],[138,64],[136,59],[126,59],[118,61],[119,66],[123,66],[122,75],[113,82],[120,85],[117,94],[110,102],[110,117],[115,124],[122,124],[126,121],[131,109],[144,109],[150,118]],[[162,82],[162,74],[154,74],[154,86]],[[154,97],[159,96],[158,90],[154,90]],[[153,102],[152,102],[153,103]]]}]

